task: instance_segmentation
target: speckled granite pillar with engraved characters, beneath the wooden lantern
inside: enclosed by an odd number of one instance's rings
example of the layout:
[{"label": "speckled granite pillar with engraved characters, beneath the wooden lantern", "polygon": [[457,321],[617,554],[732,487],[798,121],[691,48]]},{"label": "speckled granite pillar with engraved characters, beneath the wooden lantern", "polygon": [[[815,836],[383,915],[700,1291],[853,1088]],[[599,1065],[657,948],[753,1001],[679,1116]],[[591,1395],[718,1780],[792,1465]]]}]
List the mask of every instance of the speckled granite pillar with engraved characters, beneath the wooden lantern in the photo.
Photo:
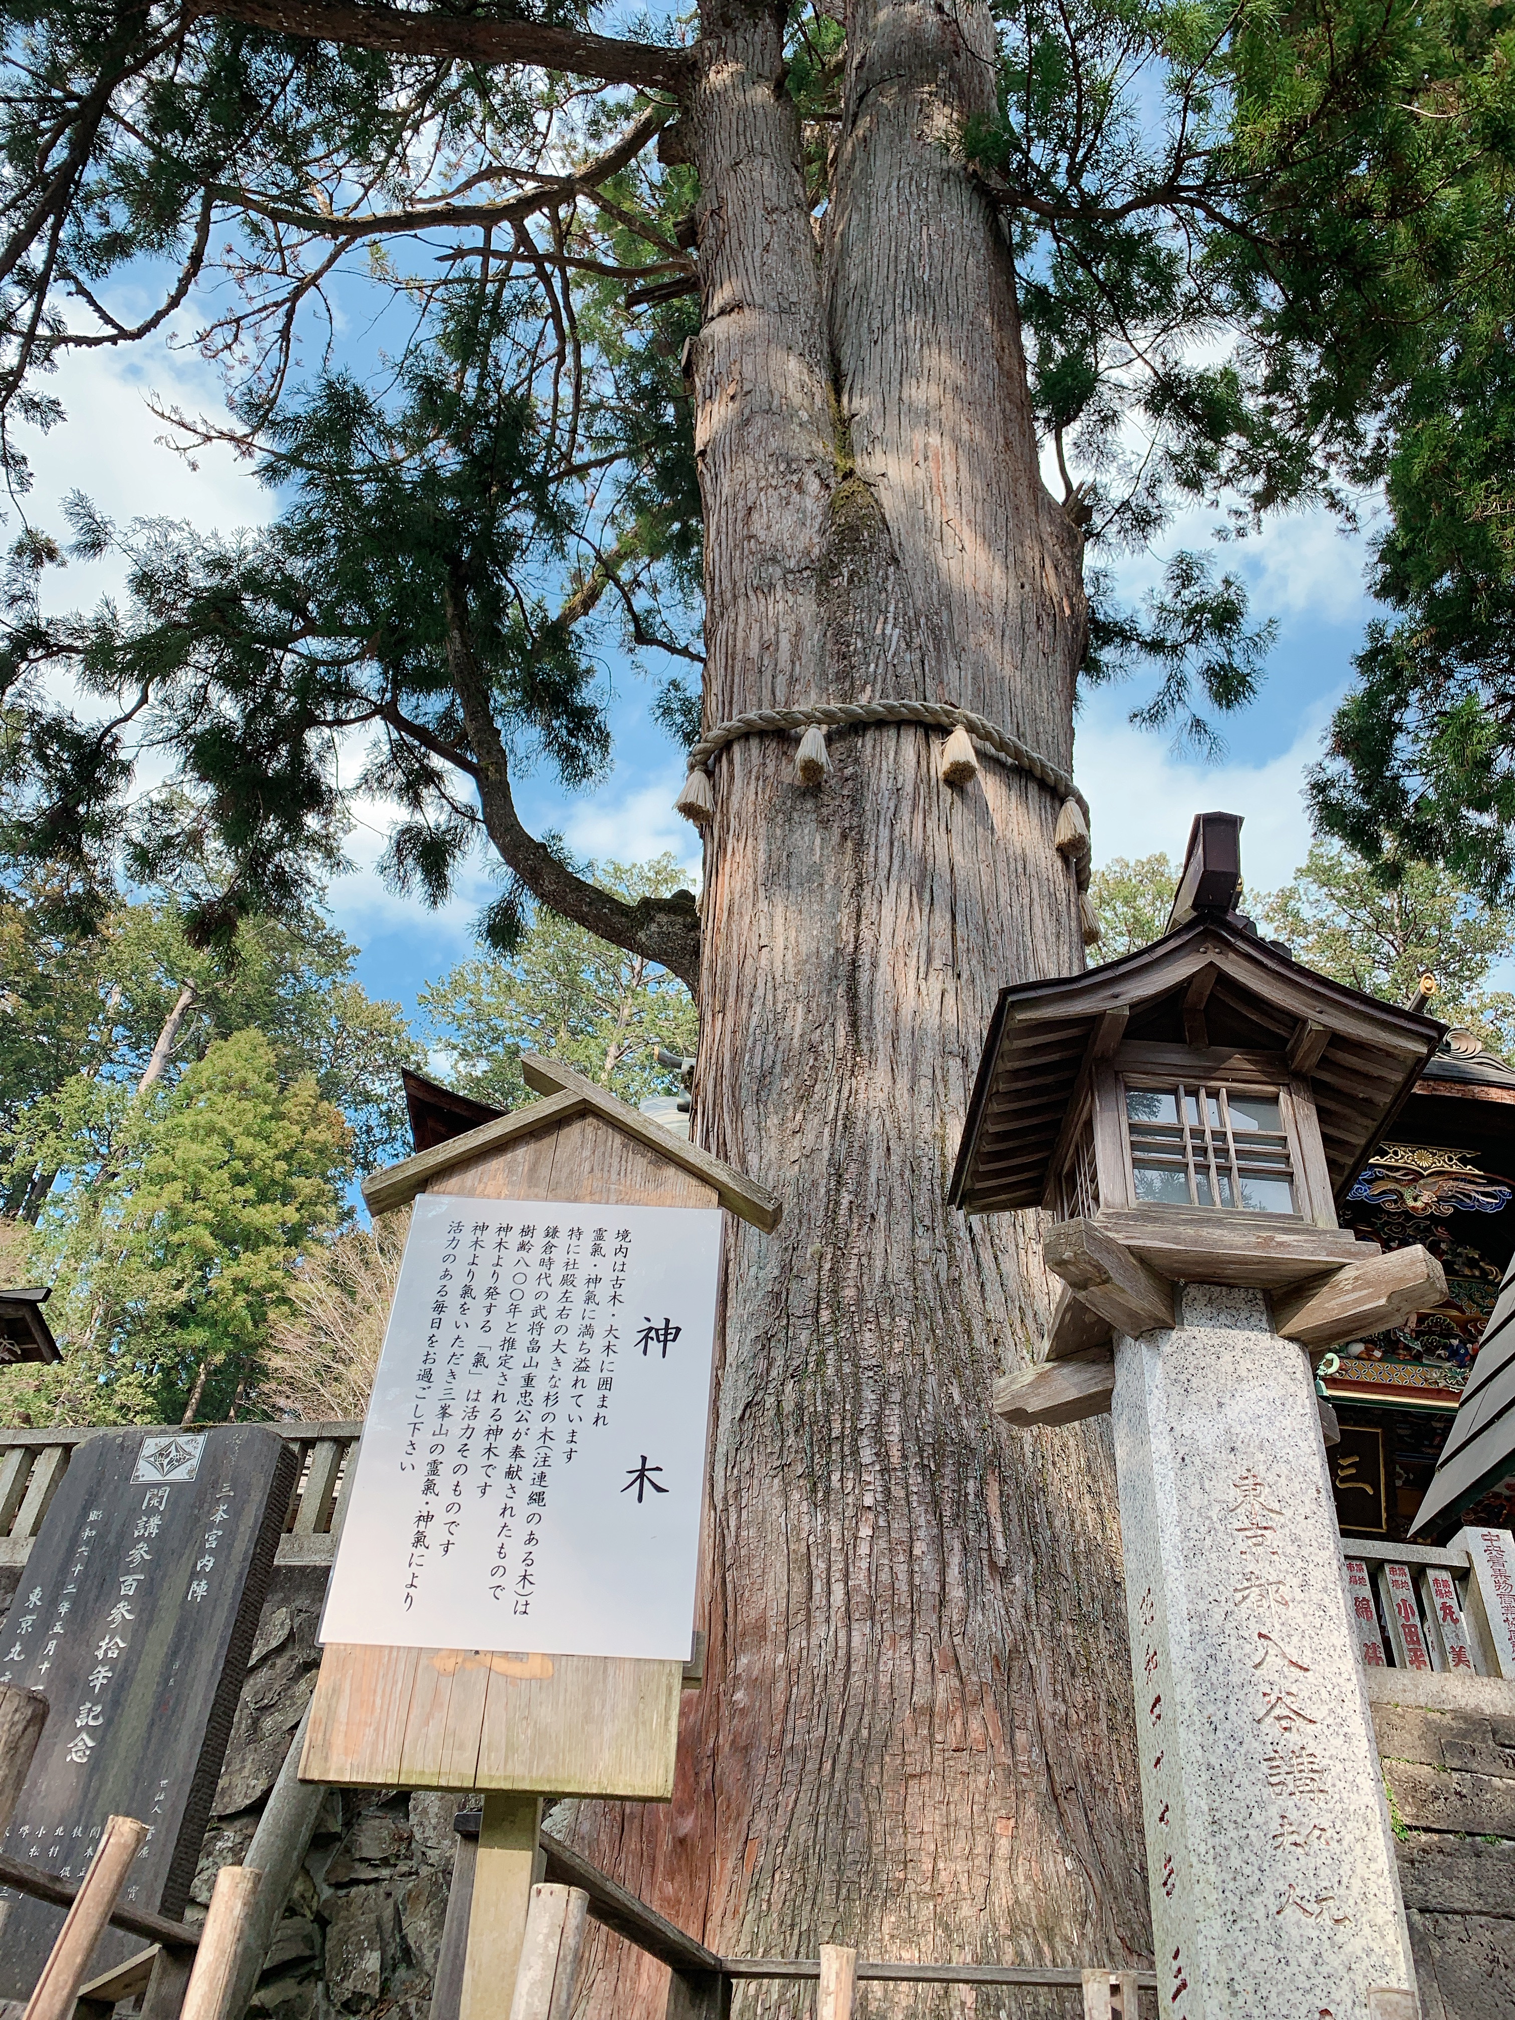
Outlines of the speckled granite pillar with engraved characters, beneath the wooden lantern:
[{"label": "speckled granite pillar with engraved characters, beneath the wooden lantern", "polygon": [[1113,1402],[1159,2010],[1366,2016],[1412,1965],[1305,1355],[1186,1285]]}]

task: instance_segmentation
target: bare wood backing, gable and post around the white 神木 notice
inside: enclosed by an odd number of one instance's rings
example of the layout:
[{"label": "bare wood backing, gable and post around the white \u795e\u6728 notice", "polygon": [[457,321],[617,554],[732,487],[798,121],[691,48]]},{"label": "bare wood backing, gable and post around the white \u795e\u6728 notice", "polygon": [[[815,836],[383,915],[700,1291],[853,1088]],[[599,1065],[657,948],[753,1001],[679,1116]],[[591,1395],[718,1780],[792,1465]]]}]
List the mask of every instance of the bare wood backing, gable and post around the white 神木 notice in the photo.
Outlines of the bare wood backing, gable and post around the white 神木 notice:
[{"label": "bare wood backing, gable and post around the white \u795e\u6728 notice", "polygon": [[[717,1206],[760,1228],[778,1224],[778,1202],[766,1188],[572,1069],[525,1058],[521,1071],[549,1099],[378,1174],[364,1188],[370,1208],[386,1212],[418,1194],[434,1194],[446,1200],[444,1214],[459,1202],[457,1218],[467,1222],[469,1200],[560,1202],[584,1208],[564,1216],[564,1224],[582,1226],[586,1240],[600,1222],[614,1226],[616,1206],[687,1208],[691,1242],[695,1226],[703,1228]],[[541,1216],[533,1210],[529,1220],[537,1228]],[[489,1220],[491,1226],[499,1222],[499,1214]],[[665,1323],[667,1313],[636,1311],[634,1319],[640,1329],[642,1321]],[[659,1353],[656,1339],[648,1339],[648,1353]],[[703,1368],[701,1418],[709,1359]],[[562,1414],[566,1428],[568,1406]],[[632,1454],[632,1467],[636,1460]],[[642,1462],[650,1479],[656,1456],[646,1454]],[[703,1450],[699,1473],[703,1485]],[[362,1477],[360,1460],[356,1495]],[[341,1551],[362,1549],[362,1507],[354,1503]],[[693,1618],[685,1634],[691,1626]],[[479,1638],[499,1640],[501,1632],[491,1622]],[[485,2012],[509,2006],[533,1879],[539,1798],[667,1802],[673,1794],[683,1648],[661,1656],[564,1654],[533,1642],[529,1618],[511,1634],[519,1634],[513,1648],[327,1640],[301,1755],[307,1782],[487,1792],[463,2020],[483,2020]]]}]

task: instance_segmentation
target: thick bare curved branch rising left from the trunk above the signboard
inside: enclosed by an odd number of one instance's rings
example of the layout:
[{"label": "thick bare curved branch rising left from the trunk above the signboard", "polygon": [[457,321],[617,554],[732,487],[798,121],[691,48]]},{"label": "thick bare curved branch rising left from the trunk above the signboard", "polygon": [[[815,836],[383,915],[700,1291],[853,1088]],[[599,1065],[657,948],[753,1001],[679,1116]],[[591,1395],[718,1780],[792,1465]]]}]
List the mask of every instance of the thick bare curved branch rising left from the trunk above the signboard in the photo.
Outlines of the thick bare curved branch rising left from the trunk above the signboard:
[{"label": "thick bare curved branch rising left from the trunk above the signboard", "polygon": [[699,990],[699,913],[693,897],[642,897],[634,905],[612,891],[576,877],[515,812],[505,739],[489,707],[489,685],[469,634],[467,588],[454,580],[446,592],[446,661],[463,705],[463,721],[477,758],[479,808],[489,840],[527,891],[564,919],[598,933],[612,947],[640,953]]}]

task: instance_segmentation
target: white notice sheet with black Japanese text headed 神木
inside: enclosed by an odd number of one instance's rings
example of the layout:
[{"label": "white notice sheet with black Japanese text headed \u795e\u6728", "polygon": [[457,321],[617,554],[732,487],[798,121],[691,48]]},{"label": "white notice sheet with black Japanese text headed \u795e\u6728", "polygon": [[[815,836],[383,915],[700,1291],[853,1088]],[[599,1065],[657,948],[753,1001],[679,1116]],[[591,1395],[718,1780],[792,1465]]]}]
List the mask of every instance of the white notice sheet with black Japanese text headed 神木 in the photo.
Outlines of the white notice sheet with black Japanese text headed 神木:
[{"label": "white notice sheet with black Japanese text headed \u795e\u6728", "polygon": [[422,1194],[323,1642],[689,1656],[717,1208]]}]

